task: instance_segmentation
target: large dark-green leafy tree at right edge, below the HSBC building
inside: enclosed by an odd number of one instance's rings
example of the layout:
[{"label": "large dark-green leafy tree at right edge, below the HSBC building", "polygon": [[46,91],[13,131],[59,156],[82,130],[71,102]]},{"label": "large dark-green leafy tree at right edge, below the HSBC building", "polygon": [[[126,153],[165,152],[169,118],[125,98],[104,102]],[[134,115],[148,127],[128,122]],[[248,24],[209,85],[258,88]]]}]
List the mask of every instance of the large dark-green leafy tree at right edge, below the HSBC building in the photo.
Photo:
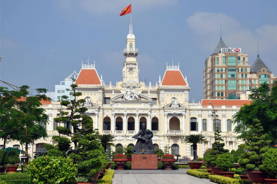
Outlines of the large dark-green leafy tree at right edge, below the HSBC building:
[{"label": "large dark-green leafy tree at right edge, below the HSBC building", "polygon": [[245,139],[249,137],[248,127],[253,124],[253,119],[258,119],[268,138],[276,144],[277,142],[277,81],[273,85],[263,83],[259,88],[251,90],[249,95],[251,104],[244,105],[233,116],[233,124],[237,122],[234,131],[240,133],[238,138]]}]

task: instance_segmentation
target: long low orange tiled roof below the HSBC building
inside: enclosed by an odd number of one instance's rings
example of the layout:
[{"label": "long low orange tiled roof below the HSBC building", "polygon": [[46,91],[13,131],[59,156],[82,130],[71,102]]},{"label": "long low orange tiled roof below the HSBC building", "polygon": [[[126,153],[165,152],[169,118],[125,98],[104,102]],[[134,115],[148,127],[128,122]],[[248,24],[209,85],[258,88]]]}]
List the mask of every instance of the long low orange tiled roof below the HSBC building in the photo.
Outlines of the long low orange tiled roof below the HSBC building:
[{"label": "long low orange tiled roof below the HSBC building", "polygon": [[244,104],[249,105],[250,100],[217,100],[217,99],[202,99],[201,105],[210,105],[209,102],[212,102],[212,105],[238,105],[242,106]]}]

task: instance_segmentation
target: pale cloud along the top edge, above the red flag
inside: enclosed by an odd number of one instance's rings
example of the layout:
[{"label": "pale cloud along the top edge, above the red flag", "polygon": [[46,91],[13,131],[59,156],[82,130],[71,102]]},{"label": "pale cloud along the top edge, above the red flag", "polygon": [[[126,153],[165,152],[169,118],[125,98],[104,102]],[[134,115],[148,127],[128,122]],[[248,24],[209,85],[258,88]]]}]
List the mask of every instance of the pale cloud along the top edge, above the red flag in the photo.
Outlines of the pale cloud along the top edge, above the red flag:
[{"label": "pale cloud along the top edge, above the red flag", "polygon": [[[106,12],[118,12],[120,14],[127,5],[131,4],[130,0],[59,0],[62,9],[72,11],[73,8],[79,7],[92,14],[103,14]],[[176,4],[177,0],[133,0],[132,7],[135,10],[146,10],[157,6],[167,6]]]}]

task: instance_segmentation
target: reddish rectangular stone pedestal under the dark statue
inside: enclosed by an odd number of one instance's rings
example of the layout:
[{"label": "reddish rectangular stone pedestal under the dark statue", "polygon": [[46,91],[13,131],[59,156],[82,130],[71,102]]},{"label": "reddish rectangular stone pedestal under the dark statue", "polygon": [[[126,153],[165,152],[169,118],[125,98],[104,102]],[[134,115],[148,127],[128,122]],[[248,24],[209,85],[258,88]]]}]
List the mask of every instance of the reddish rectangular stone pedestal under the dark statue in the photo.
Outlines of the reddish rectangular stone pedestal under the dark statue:
[{"label": "reddish rectangular stone pedestal under the dark statue", "polygon": [[132,169],[158,169],[158,155],[132,154]]}]

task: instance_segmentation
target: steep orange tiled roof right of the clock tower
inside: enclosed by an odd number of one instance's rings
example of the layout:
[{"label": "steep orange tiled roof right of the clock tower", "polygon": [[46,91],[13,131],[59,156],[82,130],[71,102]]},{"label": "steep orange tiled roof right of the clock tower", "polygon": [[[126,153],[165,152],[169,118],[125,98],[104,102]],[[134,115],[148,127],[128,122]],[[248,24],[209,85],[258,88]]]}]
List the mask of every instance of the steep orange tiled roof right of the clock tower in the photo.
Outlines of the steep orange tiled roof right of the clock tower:
[{"label": "steep orange tiled roof right of the clock tower", "polygon": [[163,86],[187,86],[180,70],[166,70],[162,80]]}]

